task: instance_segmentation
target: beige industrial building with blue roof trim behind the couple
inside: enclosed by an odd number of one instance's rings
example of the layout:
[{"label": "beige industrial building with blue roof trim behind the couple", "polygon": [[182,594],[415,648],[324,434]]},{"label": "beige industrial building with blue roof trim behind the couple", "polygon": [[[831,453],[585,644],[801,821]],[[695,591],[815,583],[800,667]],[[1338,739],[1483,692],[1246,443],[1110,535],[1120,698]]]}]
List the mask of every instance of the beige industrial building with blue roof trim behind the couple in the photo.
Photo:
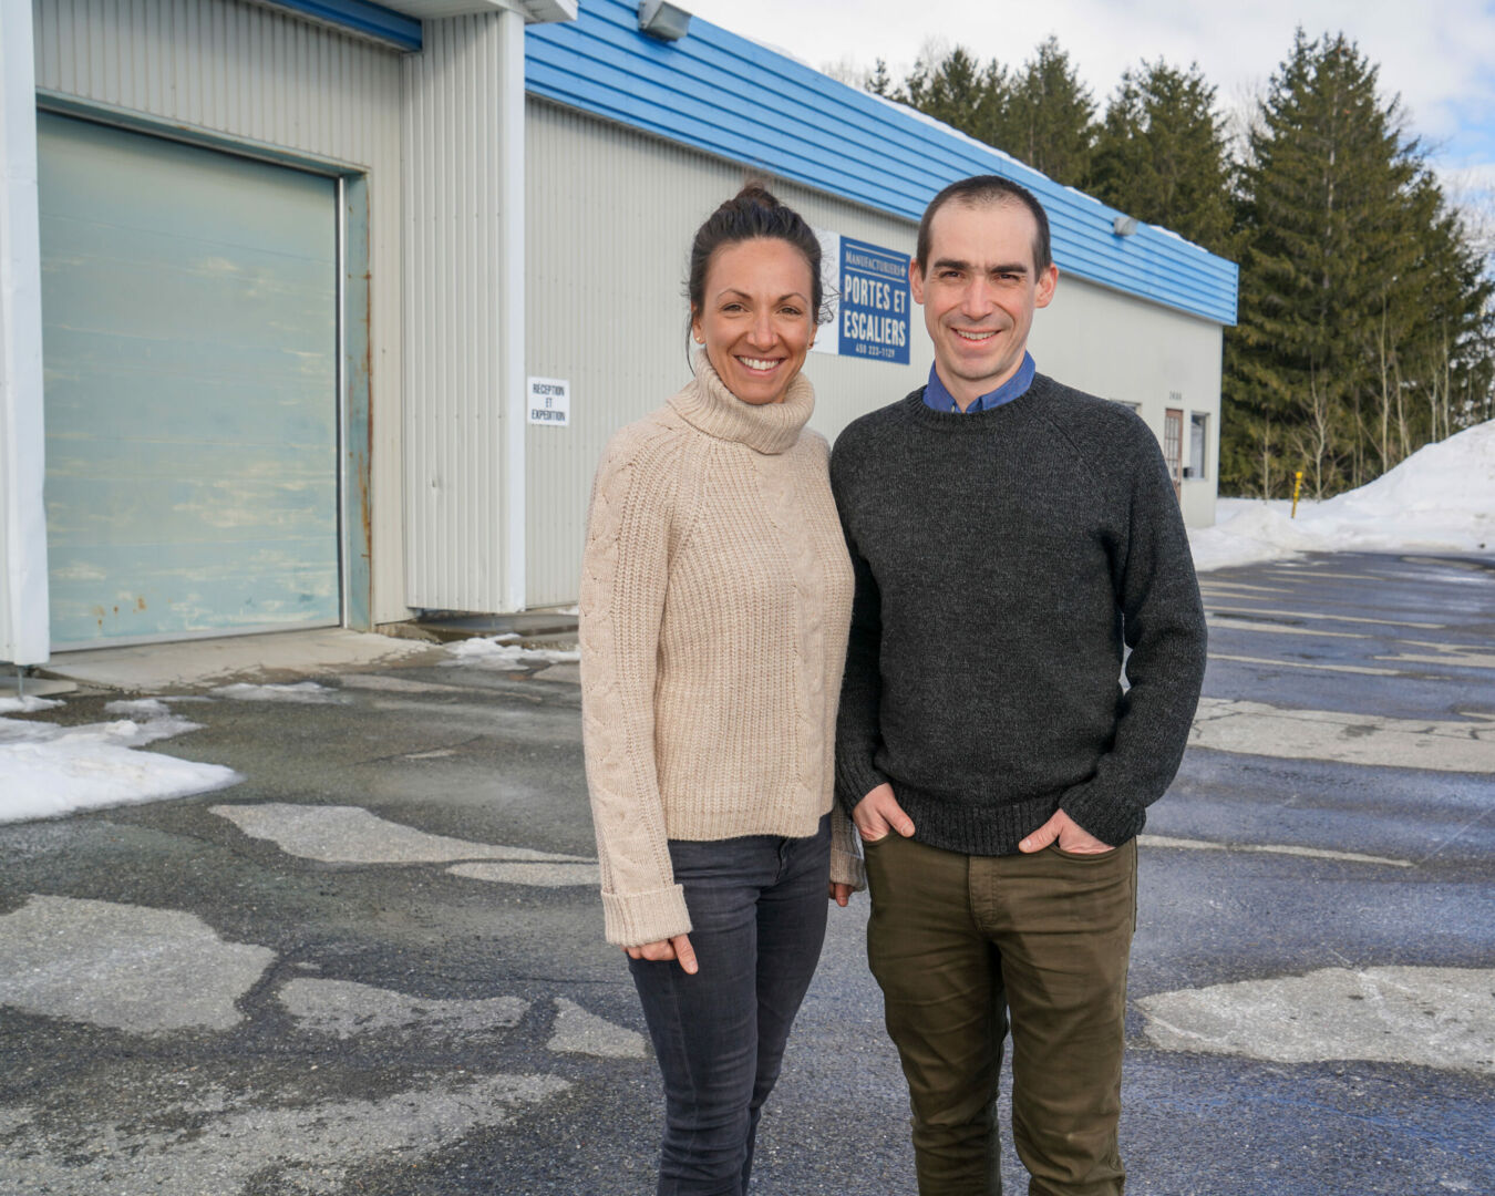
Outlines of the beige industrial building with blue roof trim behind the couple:
[{"label": "beige industrial building with blue roof trim behind the couple", "polygon": [[1002,173],[1054,230],[1039,368],[1133,405],[1212,522],[1232,263],[677,16],[0,0],[0,661],[574,602],[592,469],[689,377],[689,238],[749,176],[842,296],[812,426],[922,384],[918,217]]}]

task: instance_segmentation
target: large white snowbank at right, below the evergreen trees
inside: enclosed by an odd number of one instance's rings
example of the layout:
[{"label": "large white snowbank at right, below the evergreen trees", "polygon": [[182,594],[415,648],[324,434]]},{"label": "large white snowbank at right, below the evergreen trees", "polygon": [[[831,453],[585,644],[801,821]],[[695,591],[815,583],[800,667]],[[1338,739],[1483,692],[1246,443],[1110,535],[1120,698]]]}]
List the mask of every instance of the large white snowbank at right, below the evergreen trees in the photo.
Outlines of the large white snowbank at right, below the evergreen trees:
[{"label": "large white snowbank at right, below the evergreen trees", "polygon": [[1495,420],[1413,453],[1326,502],[1220,499],[1218,522],[1189,532],[1195,568],[1301,552],[1495,552]]}]

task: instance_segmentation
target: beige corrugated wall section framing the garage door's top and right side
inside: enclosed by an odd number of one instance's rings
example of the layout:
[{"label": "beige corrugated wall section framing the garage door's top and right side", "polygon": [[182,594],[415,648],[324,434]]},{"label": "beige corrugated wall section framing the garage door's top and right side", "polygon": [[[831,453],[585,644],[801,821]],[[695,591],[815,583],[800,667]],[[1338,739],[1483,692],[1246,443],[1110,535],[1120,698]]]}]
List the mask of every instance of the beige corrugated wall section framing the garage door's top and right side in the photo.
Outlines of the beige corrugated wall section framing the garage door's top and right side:
[{"label": "beige corrugated wall section framing the garage door's top and right side", "polygon": [[357,164],[369,182],[372,617],[404,619],[399,55],[235,0],[34,0],[36,85]]}]

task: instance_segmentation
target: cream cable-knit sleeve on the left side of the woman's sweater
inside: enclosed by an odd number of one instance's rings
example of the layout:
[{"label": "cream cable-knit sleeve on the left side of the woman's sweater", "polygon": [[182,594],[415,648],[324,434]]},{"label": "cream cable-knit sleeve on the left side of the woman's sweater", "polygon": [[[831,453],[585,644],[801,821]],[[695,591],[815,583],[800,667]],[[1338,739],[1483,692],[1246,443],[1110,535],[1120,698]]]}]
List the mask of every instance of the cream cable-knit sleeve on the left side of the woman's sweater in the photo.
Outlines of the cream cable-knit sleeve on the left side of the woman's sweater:
[{"label": "cream cable-knit sleeve on the left side of the woman's sweater", "polygon": [[667,446],[625,428],[592,483],[582,558],[582,743],[607,940],[691,930],[655,767],[653,692],[679,487]]}]

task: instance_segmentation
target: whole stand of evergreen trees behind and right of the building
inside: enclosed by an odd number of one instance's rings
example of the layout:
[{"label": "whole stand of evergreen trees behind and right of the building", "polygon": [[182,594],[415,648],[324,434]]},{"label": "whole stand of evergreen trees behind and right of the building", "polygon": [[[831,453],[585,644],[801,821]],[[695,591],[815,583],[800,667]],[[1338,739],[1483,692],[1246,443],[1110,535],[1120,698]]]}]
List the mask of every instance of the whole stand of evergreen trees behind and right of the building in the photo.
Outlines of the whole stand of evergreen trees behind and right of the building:
[{"label": "whole stand of evergreen trees behind and right of the building", "polygon": [[1491,245],[1343,33],[1299,30],[1233,123],[1162,60],[1102,111],[1052,37],[1017,67],[957,46],[855,82],[1239,263],[1220,493],[1280,498],[1302,469],[1326,498],[1495,417]]}]

